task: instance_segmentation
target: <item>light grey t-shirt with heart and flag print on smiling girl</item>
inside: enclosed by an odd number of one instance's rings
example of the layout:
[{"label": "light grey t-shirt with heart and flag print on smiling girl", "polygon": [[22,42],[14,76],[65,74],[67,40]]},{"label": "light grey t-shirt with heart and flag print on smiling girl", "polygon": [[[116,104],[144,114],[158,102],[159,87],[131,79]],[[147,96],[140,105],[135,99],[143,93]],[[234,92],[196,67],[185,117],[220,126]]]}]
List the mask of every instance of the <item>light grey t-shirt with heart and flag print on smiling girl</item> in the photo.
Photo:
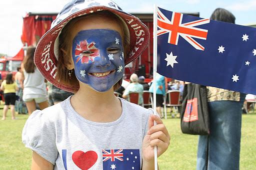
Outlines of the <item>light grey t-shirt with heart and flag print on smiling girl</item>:
[{"label": "light grey t-shirt with heart and flag print on smiling girl", "polygon": [[70,97],[25,123],[22,141],[54,170],[139,170],[141,147],[151,110],[120,99],[121,116],[108,123],[84,119],[74,111]]}]

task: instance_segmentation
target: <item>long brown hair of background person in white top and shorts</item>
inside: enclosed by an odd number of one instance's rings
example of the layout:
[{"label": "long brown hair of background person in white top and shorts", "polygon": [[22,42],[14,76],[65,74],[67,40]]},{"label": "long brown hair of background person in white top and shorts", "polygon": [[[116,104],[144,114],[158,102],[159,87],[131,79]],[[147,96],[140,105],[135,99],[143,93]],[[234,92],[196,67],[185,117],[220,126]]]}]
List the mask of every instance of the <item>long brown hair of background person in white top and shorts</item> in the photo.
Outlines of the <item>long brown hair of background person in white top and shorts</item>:
[{"label": "long brown hair of background person in white top and shorts", "polygon": [[34,51],[35,47],[29,46],[26,50],[26,55],[23,60],[23,66],[27,73],[33,73],[34,72]]}]

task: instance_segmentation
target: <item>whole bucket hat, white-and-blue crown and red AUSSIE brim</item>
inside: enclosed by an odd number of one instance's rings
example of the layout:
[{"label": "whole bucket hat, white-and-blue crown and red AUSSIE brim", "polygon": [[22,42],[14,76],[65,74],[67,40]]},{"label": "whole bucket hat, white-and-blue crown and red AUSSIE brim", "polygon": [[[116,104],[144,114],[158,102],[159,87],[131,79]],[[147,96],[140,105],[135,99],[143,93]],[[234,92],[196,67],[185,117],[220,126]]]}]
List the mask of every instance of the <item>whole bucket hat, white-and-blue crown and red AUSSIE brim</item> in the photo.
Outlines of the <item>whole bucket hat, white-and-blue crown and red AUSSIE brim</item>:
[{"label": "whole bucket hat, white-and-blue crown and red AUSSIE brim", "polygon": [[[56,79],[58,66],[58,37],[62,28],[72,19],[101,10],[108,10],[125,22],[129,31],[130,50],[125,56],[124,64],[128,64],[142,53],[148,43],[148,28],[135,16],[122,11],[112,0],[72,0],[68,2],[51,23],[50,29],[39,40],[34,63],[45,79],[54,86],[65,91],[77,91],[79,87],[61,84]],[[121,81],[119,81],[119,84]]]}]

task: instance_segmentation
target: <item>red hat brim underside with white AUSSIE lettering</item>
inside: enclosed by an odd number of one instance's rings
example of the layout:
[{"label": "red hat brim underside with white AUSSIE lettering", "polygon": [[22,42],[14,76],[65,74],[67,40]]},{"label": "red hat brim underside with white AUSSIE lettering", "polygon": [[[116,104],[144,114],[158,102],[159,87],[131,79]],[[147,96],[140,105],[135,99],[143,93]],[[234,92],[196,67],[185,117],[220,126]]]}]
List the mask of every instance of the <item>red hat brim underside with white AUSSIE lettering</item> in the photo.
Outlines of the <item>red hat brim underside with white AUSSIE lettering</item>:
[{"label": "red hat brim underside with white AUSSIE lettering", "polygon": [[[113,9],[106,6],[93,6],[77,11],[69,15],[65,19],[59,21],[57,25],[48,30],[41,37],[35,49],[34,63],[36,67],[39,69],[43,77],[54,86],[69,92],[77,91],[79,88],[77,86],[60,84],[56,79],[58,56],[55,56],[54,54],[54,44],[62,28],[74,17],[86,15],[87,13],[97,12],[101,10],[108,10],[112,13],[119,15],[128,27],[130,35],[130,50],[128,52],[128,55],[124,58],[125,65],[139,57],[139,55],[146,48],[149,39],[149,31],[148,28],[137,17],[121,10]],[[58,46],[56,48],[58,48]]]}]

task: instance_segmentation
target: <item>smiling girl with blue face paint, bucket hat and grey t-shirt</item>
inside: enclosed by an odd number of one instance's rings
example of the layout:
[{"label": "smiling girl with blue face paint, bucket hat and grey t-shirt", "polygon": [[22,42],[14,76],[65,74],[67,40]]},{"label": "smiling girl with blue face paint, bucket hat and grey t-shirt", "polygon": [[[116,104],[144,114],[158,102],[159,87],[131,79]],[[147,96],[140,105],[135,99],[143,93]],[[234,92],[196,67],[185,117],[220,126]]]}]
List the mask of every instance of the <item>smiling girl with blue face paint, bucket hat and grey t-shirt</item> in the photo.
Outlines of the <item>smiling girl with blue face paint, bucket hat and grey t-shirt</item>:
[{"label": "smiling girl with blue face paint, bucket hat and grey t-shirt", "polygon": [[165,126],[151,110],[113,94],[148,35],[112,1],[64,6],[34,61],[48,81],[75,94],[28,118],[22,141],[33,150],[32,170],[153,170],[154,146],[160,156],[169,145]]}]

